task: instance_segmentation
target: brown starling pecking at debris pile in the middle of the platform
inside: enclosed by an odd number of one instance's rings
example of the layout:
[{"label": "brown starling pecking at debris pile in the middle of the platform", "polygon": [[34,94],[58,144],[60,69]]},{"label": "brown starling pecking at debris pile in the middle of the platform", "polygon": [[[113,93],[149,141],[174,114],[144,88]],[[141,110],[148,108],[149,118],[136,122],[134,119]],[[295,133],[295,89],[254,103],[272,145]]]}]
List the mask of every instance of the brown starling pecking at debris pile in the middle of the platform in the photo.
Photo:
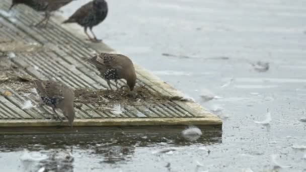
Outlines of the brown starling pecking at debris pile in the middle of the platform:
[{"label": "brown starling pecking at debris pile in the middle of the platform", "polygon": [[95,65],[111,90],[110,80],[115,80],[118,89],[118,79],[125,79],[130,91],[134,90],[136,73],[133,62],[122,54],[101,53],[92,58],[83,58]]}]

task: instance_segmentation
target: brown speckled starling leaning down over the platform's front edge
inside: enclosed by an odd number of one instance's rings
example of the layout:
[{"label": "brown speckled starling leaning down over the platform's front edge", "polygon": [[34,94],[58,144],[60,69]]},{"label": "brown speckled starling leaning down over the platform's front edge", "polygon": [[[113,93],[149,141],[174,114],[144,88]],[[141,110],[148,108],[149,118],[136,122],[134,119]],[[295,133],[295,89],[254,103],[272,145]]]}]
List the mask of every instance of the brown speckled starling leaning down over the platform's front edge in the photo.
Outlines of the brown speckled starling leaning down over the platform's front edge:
[{"label": "brown speckled starling leaning down over the platform's front edge", "polygon": [[74,92],[72,89],[62,83],[51,80],[37,80],[34,82],[40,97],[41,106],[47,105],[51,107],[57,117],[59,116],[55,109],[62,110],[64,116],[68,119],[69,125],[72,127],[75,116],[73,109]]}]

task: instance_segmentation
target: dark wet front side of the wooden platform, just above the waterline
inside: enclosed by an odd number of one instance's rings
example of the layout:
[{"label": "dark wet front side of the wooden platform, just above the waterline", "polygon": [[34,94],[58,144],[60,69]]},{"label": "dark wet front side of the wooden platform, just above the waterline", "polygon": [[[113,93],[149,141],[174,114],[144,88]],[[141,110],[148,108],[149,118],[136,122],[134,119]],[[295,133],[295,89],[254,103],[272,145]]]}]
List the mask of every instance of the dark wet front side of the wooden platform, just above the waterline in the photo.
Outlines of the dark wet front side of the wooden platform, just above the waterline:
[{"label": "dark wet front side of the wooden platform, just above the waterline", "polygon": [[[221,128],[220,126],[207,126],[207,125],[198,125],[198,127],[202,130],[204,138],[216,138],[221,137]],[[175,135],[174,138],[179,138],[177,135],[180,135],[182,130],[184,130],[186,126],[184,125],[172,125],[172,126],[103,126],[103,127],[95,127],[95,126],[84,126],[78,127],[74,126],[70,128],[68,126],[60,127],[2,127],[0,130],[0,135],[7,135],[6,138],[10,138],[9,135],[24,135],[24,134],[35,134],[36,139],[39,137],[44,137],[44,134],[56,134],[52,135],[53,137],[57,137],[57,134],[78,134],[78,135],[67,135],[66,137],[78,137],[78,140],[82,139],[79,137],[79,134],[99,134],[99,135],[124,135],[124,134],[145,134],[145,136],[150,136],[150,134],[171,134]],[[42,136],[37,135],[42,134]],[[27,137],[27,136],[26,136]],[[47,136],[50,137],[50,136]],[[59,137],[62,137],[59,135]],[[97,137],[97,135],[95,135]],[[15,136],[13,136],[16,139]],[[149,139],[149,138],[148,138]],[[215,141],[218,139],[213,139]],[[150,143],[152,143],[152,139],[150,139]],[[160,141],[160,140],[159,140]]]}]

